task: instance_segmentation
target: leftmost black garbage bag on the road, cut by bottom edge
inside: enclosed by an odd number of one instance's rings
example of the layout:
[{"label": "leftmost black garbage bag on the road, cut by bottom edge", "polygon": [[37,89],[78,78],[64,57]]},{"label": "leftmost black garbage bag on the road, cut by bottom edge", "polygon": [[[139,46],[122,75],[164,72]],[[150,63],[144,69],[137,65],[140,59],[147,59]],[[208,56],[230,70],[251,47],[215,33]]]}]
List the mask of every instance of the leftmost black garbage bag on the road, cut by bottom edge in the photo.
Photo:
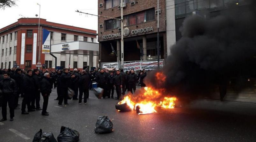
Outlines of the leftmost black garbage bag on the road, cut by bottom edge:
[{"label": "leftmost black garbage bag on the road, cut by bottom edge", "polygon": [[43,132],[42,129],[40,129],[40,131],[35,134],[33,142],[57,142],[57,140],[54,138],[53,133]]}]

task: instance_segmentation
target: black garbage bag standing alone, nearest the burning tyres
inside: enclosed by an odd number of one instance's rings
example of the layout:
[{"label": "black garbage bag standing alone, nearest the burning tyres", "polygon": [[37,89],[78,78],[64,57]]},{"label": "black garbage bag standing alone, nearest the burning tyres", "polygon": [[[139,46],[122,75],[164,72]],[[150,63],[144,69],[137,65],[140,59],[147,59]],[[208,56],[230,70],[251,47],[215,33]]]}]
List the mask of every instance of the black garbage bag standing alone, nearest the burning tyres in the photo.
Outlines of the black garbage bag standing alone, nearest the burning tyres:
[{"label": "black garbage bag standing alone, nearest the burning tyres", "polygon": [[107,116],[100,116],[97,119],[94,131],[98,134],[113,132],[113,123]]}]

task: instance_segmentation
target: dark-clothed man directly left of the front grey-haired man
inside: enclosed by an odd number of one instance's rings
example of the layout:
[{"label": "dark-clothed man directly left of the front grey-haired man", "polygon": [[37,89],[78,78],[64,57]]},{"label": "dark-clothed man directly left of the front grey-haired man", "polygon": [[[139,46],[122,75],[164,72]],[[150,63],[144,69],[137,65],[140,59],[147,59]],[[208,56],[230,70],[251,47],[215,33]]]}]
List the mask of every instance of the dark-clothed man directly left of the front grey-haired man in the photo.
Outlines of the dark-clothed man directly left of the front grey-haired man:
[{"label": "dark-clothed man directly left of the front grey-haired man", "polygon": [[[31,108],[36,109],[38,111],[38,110],[42,110],[40,108],[40,91],[39,91],[41,78],[39,78],[39,70],[38,69],[34,69],[34,74],[32,77],[34,80],[35,91],[32,96]],[[36,107],[35,107],[35,103],[36,103]]]}]

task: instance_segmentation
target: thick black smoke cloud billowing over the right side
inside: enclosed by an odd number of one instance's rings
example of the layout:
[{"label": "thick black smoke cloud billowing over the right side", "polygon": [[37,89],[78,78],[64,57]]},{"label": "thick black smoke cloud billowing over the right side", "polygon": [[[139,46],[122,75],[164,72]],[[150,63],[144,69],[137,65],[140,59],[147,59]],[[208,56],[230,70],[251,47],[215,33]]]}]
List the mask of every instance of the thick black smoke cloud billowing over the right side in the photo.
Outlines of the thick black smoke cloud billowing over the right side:
[{"label": "thick black smoke cloud billowing over the right side", "polygon": [[[180,28],[181,39],[170,47],[171,55],[165,60],[165,84],[158,87],[176,95],[207,95],[220,82],[255,77],[255,13],[252,3],[212,18],[187,17]],[[148,75],[148,85],[159,85],[154,76],[155,72]]]}]

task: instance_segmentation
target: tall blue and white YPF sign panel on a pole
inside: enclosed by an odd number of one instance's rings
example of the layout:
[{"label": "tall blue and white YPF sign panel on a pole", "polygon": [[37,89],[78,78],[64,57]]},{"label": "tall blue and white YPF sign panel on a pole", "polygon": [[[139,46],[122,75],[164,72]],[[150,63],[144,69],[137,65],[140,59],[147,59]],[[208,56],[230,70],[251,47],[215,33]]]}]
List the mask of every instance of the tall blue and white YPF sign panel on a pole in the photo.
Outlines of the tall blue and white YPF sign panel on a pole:
[{"label": "tall blue and white YPF sign panel on a pole", "polygon": [[51,34],[50,31],[43,29],[43,45],[42,45],[42,53],[50,54],[50,44],[51,44]]}]

